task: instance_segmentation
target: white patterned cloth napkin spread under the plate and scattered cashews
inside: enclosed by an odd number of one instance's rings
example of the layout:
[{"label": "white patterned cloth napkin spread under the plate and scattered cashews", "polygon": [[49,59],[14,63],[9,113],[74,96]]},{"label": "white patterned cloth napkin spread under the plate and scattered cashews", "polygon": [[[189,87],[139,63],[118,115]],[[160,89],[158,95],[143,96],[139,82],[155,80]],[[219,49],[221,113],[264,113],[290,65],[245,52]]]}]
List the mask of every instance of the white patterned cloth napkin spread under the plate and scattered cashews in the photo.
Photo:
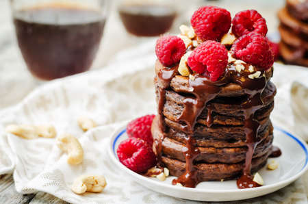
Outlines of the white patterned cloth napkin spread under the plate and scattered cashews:
[{"label": "white patterned cloth napkin spread under the plate and scattered cashews", "polygon": [[[123,175],[107,156],[107,140],[117,127],[136,116],[155,113],[155,55],[152,51],[146,55],[145,47],[138,48],[142,52],[134,52],[143,53],[142,58],[132,60],[135,55],[130,51],[122,53],[122,60],[116,64],[52,81],[34,90],[18,105],[0,112],[0,173],[13,172],[18,192],[48,192],[71,203],[186,202],[143,188]],[[273,81],[279,86],[279,92],[273,119],[282,127],[292,129],[290,121],[293,119],[289,118],[292,116],[291,81],[303,82],[302,79],[308,78],[308,72],[281,64],[275,66]],[[88,116],[100,126],[84,133],[77,125],[79,116]],[[67,155],[57,148],[55,139],[24,140],[5,133],[5,126],[12,123],[53,124],[58,134],[73,134],[84,148],[84,162],[78,166],[67,164]],[[74,194],[70,186],[76,177],[84,174],[105,175],[107,187],[104,192]],[[261,200],[270,203],[294,198],[307,202],[302,181]],[[252,199],[250,203],[259,201]]]}]

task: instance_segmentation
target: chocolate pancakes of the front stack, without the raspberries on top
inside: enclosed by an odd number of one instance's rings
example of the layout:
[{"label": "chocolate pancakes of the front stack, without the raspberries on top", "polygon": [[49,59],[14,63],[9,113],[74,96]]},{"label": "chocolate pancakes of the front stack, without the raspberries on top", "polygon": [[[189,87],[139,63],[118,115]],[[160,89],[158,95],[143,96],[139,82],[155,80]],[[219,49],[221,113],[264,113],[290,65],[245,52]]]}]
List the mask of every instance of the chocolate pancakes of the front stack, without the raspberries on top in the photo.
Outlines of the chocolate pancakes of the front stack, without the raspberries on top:
[{"label": "chocolate pancakes of the front stack, without the raspberries on top", "polygon": [[[220,181],[242,175],[246,157],[249,157],[247,129],[244,128],[248,121],[243,108],[245,101],[253,101],[253,120],[259,123],[256,141],[251,142],[256,145],[251,170],[256,172],[266,164],[272,149],[270,112],[276,94],[276,87],[270,82],[272,68],[262,73],[264,77],[249,79],[249,65],[243,65],[245,70],[238,73],[235,64],[229,62],[226,79],[216,85],[219,90],[211,91],[209,95],[206,93],[211,88],[206,85],[208,81],[201,82],[204,77],[183,77],[177,72],[178,65],[167,68],[158,60],[155,64],[159,114],[152,125],[153,149],[161,165],[170,170],[170,175],[180,177],[188,168],[194,169],[195,181],[185,183],[187,187],[194,187],[200,181]],[[243,81],[244,77],[247,79]],[[205,92],[200,89],[203,87],[206,87]],[[258,92],[258,97],[251,97]],[[203,97],[202,94],[207,95]],[[192,123],[193,127],[190,126]],[[193,167],[187,166],[190,165],[188,157],[191,157]]]}]

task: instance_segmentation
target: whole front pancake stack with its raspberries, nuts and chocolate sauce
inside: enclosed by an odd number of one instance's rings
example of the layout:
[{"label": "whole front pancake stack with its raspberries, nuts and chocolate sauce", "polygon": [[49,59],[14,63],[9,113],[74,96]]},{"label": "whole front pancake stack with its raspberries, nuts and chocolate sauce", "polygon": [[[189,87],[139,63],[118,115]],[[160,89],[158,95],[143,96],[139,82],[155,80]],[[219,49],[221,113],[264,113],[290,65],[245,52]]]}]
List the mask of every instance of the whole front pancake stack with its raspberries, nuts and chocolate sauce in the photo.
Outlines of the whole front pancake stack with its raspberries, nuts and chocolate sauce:
[{"label": "whole front pancake stack with its raspberries, nuts and chocolate sauce", "polygon": [[155,47],[157,165],[177,176],[174,185],[240,177],[238,188],[260,186],[252,172],[272,153],[276,94],[277,47],[266,38],[266,20],[255,10],[231,19],[223,8],[204,6],[190,23]]}]

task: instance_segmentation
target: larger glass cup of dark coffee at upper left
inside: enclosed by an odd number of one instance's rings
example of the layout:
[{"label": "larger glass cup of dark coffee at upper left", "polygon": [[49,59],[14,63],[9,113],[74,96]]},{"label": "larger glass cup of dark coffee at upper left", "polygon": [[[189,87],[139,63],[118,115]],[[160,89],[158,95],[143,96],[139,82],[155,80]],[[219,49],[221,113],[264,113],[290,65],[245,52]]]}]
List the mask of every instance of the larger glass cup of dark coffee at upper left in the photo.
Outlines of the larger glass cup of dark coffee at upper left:
[{"label": "larger glass cup of dark coffee at upper left", "polygon": [[107,0],[11,0],[18,47],[35,77],[88,71],[99,49]]}]

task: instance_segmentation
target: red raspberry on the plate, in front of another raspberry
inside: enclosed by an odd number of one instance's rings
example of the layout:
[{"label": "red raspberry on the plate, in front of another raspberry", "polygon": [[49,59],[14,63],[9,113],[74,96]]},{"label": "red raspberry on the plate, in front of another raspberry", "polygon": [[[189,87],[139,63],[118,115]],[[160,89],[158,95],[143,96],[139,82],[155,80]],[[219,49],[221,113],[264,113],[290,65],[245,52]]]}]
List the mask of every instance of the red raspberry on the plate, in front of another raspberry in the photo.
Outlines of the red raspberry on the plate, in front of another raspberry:
[{"label": "red raspberry on the plate, in front of another raspberry", "polygon": [[127,138],[118,145],[118,160],[136,173],[145,173],[155,166],[156,157],[149,144],[137,138]]}]

